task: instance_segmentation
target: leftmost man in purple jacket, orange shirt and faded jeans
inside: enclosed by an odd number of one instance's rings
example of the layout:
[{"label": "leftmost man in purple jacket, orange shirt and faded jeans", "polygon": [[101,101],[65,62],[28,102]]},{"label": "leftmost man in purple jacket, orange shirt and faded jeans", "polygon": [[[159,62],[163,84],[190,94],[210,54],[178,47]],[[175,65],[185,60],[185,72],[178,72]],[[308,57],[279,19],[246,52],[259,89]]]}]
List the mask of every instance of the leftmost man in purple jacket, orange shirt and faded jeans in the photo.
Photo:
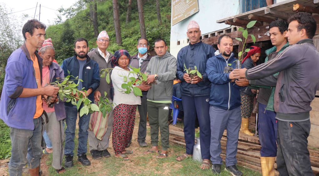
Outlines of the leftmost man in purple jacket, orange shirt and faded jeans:
[{"label": "leftmost man in purple jacket, orange shirt and faded jeans", "polygon": [[31,176],[40,172],[41,95],[53,96],[51,102],[56,102],[59,91],[54,86],[41,87],[42,58],[36,50],[43,44],[45,28],[38,20],[29,20],[22,28],[25,44],[10,55],[5,67],[0,118],[10,127],[9,175],[22,175],[26,163]]}]

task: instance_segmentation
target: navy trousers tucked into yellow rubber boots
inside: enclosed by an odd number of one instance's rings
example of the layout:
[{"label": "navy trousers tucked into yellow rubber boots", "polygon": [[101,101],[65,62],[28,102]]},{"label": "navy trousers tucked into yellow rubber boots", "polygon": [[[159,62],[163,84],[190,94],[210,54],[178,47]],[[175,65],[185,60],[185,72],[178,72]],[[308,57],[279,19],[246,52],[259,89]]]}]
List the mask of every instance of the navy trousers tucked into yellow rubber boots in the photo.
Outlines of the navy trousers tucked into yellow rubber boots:
[{"label": "navy trousers tucked into yellow rubber boots", "polygon": [[266,110],[266,105],[259,103],[258,134],[261,144],[260,156],[276,157],[277,155],[277,123],[276,113]]}]

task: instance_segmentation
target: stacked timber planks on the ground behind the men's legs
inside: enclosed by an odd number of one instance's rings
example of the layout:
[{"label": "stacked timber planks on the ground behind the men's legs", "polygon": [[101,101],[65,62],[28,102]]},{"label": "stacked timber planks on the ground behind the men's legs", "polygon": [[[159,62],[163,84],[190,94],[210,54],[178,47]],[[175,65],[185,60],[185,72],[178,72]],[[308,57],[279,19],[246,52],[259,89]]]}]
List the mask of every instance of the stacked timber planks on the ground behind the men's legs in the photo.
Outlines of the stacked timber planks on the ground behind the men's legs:
[{"label": "stacked timber planks on the ground behind the men's legs", "polygon": [[[169,142],[186,146],[183,129],[170,125],[169,134]],[[226,158],[226,134],[227,131],[225,130],[220,141],[222,149],[220,156],[223,160],[225,160]],[[254,170],[256,172],[261,172],[260,149],[261,145],[259,143],[259,137],[249,136],[240,132],[238,137],[238,147],[236,156],[237,164],[248,169]],[[319,150],[314,150],[310,148],[308,148],[308,150],[310,153],[311,168],[314,171],[314,174],[316,176],[319,176]],[[276,163],[275,168],[275,175],[278,176],[279,172],[277,171]]]}]

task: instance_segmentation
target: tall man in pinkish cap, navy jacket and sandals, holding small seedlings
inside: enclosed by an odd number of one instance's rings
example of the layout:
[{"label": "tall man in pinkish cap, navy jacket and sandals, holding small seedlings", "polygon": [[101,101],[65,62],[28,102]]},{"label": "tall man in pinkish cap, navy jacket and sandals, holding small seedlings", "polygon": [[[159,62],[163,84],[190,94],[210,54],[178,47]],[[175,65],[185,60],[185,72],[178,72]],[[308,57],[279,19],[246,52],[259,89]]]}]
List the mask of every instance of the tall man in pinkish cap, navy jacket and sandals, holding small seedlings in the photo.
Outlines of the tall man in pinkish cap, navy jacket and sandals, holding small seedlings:
[{"label": "tall man in pinkish cap, navy jacket and sandals, holding small seedlings", "polygon": [[[210,168],[210,118],[209,96],[211,82],[207,78],[206,62],[214,56],[215,49],[200,41],[201,31],[196,21],[190,21],[187,27],[189,45],[183,47],[177,54],[176,77],[182,81],[182,102],[184,110],[184,134],[186,153],[176,158],[182,161],[193,155],[195,138],[195,119],[198,117],[200,126],[200,143],[203,163],[201,169]],[[197,70],[192,73],[187,69]],[[199,74],[197,74],[199,73]]]}]

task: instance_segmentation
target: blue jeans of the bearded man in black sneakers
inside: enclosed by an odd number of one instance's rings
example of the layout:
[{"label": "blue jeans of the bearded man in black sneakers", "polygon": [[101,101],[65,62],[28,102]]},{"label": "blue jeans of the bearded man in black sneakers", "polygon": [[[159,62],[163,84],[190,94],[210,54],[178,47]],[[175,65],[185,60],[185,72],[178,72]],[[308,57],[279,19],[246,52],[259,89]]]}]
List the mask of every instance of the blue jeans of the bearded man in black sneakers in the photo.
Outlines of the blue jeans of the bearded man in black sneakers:
[{"label": "blue jeans of the bearded man in black sneakers", "polygon": [[[65,147],[64,154],[73,156],[74,150],[74,137],[75,137],[75,126],[78,118],[78,109],[73,107],[65,106],[65,114],[66,114],[66,130],[65,130]],[[78,155],[86,153],[87,151],[87,137],[89,129],[90,116],[83,115],[79,118],[78,126]]]}]

